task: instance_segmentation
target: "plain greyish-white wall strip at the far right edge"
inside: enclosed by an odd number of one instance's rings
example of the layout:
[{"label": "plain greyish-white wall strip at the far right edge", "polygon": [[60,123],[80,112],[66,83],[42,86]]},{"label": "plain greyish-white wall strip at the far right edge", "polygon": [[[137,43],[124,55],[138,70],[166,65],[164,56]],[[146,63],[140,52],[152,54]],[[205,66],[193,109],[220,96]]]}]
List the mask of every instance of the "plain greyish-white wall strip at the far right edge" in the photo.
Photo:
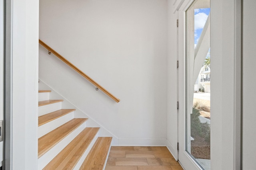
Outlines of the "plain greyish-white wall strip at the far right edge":
[{"label": "plain greyish-white wall strip at the far right edge", "polygon": [[[256,1],[243,1],[243,142],[242,165],[244,170],[256,169],[256,98],[254,84],[256,49]],[[252,71],[253,70],[253,71]]]}]

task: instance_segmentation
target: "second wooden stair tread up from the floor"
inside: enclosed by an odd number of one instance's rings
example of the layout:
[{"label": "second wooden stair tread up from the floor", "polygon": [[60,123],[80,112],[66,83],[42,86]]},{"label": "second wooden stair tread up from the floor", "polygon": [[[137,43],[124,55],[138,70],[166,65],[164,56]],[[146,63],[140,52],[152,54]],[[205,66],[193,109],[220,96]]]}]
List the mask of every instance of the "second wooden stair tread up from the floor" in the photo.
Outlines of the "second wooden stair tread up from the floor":
[{"label": "second wooden stair tread up from the floor", "polygon": [[88,148],[99,127],[86,127],[73,141],[71,141],[49,164],[44,170],[50,169],[73,169],[85,150]]}]

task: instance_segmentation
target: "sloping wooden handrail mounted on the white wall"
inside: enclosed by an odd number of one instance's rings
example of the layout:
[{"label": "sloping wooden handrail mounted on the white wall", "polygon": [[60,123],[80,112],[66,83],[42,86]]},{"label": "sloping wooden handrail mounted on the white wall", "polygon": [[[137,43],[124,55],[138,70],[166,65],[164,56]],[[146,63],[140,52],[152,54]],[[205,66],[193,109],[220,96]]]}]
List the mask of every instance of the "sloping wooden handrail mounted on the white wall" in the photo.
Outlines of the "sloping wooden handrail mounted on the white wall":
[{"label": "sloping wooden handrail mounted on the white wall", "polygon": [[76,66],[74,66],[74,64],[70,63],[67,59],[65,59],[64,57],[62,57],[59,53],[57,53],[56,51],[54,51],[54,49],[52,49],[51,47],[49,47],[46,43],[44,43],[42,40],[39,39],[39,43],[44,46],[46,49],[48,49],[48,51],[50,51],[51,53],[53,53],[54,55],[56,55],[56,57],[58,57],[59,59],[61,59],[64,63],[68,64],[68,66],[70,66],[71,68],[73,68],[74,70],[76,70],[76,72],[78,72],[79,74],[81,74],[84,78],[86,78],[89,82],[91,82],[92,84],[94,84],[97,88],[99,88],[100,90],[102,90],[102,92],[106,93],[110,98],[112,98],[114,101],[116,101],[117,103],[120,102],[120,99],[116,98],[113,94],[111,94],[110,92],[108,92],[108,90],[106,90],[105,88],[103,88],[102,86],[100,86],[100,84],[98,84],[97,82],[95,82],[94,80],[92,80],[92,78],[90,78],[89,76],[87,76],[84,72],[82,72],[80,69],[78,69]]}]

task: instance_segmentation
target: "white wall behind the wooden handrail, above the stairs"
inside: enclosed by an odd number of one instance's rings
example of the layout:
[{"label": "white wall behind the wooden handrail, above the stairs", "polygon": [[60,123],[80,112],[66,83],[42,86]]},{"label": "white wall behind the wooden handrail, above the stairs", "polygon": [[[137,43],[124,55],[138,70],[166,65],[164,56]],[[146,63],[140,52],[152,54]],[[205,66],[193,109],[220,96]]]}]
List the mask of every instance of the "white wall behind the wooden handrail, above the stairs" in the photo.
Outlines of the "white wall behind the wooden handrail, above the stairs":
[{"label": "white wall behind the wooden handrail, above the stairs", "polygon": [[40,39],[121,101],[96,91],[42,46],[40,79],[119,145],[166,145],[166,0],[43,0]]}]

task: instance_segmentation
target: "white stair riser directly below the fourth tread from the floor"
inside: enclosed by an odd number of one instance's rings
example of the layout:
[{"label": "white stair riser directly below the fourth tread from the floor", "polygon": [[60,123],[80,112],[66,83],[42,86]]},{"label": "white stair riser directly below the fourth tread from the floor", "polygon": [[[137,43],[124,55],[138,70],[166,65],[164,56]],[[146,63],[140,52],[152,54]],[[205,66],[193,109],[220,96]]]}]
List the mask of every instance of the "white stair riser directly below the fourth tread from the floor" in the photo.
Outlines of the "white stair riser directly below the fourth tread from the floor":
[{"label": "white stair riser directly below the fourth tread from the floor", "polygon": [[38,127],[38,138],[46,135],[50,131],[56,129],[57,127],[60,127],[64,123],[67,123],[68,121],[74,119],[74,111],[63,115],[57,119],[54,119],[48,123],[45,123],[44,125],[41,125]]}]

